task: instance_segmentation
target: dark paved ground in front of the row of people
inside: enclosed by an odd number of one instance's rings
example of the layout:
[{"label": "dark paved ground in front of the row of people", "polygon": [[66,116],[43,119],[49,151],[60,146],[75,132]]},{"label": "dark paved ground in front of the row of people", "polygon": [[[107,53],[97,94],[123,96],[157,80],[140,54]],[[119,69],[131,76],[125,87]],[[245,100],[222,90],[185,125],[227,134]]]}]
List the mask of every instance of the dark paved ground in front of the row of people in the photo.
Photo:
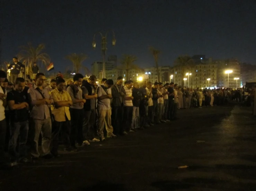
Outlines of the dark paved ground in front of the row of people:
[{"label": "dark paved ground in front of the row of people", "polygon": [[178,110],[178,117],[60,159],[0,171],[0,190],[256,190],[256,123],[249,108]]}]

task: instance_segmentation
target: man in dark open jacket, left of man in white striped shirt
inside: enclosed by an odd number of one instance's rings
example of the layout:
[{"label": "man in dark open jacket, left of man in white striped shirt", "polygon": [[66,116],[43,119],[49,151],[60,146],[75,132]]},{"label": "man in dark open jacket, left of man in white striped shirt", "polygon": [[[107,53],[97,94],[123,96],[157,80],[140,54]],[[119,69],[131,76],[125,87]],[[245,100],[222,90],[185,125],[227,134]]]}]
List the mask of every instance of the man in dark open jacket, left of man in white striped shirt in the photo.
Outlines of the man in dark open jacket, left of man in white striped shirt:
[{"label": "man in dark open jacket, left of man in white striped shirt", "polygon": [[111,87],[112,92],[112,123],[115,134],[126,135],[122,123],[124,115],[124,97],[126,95],[123,84],[123,77],[117,78],[117,82]]}]

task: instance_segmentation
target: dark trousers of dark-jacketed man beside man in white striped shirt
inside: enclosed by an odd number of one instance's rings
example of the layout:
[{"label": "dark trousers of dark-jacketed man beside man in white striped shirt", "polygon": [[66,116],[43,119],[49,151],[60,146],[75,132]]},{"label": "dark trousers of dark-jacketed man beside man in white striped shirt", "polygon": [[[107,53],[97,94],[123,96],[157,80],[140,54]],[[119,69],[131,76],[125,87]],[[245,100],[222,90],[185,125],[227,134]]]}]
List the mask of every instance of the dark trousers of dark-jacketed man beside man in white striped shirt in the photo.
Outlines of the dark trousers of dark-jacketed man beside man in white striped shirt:
[{"label": "dark trousers of dark-jacketed man beside man in white striped shirt", "polygon": [[123,106],[113,106],[112,108],[112,125],[114,128],[114,134],[123,134],[123,115],[124,107]]}]

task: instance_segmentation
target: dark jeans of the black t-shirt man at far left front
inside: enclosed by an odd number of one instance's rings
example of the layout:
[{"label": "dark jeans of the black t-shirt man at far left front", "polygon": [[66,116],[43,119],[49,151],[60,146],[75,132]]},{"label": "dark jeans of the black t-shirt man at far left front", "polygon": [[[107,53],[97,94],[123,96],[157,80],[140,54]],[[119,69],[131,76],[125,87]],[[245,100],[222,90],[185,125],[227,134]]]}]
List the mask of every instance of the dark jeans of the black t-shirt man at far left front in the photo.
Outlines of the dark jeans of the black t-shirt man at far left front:
[{"label": "dark jeans of the black t-shirt man at far left front", "polygon": [[[17,140],[18,152],[16,151]],[[10,141],[9,141],[9,154],[11,161],[18,161],[20,158],[27,156],[27,139],[28,139],[28,121],[11,122],[10,125]]]}]

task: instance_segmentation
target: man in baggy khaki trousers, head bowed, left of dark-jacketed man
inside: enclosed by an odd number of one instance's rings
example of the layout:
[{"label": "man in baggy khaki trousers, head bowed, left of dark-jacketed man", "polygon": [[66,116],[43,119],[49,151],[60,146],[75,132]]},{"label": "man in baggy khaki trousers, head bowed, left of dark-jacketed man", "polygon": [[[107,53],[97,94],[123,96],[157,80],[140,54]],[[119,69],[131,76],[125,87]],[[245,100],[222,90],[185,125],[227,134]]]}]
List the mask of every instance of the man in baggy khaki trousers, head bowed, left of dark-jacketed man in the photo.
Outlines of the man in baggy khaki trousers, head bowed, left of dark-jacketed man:
[{"label": "man in baggy khaki trousers, head bowed, left of dark-jacketed man", "polygon": [[97,95],[98,95],[98,105],[97,105],[97,134],[101,141],[104,141],[103,129],[104,125],[106,125],[107,137],[114,138],[116,137],[113,134],[113,127],[111,125],[111,87],[113,86],[113,80],[107,80],[98,87]]}]

